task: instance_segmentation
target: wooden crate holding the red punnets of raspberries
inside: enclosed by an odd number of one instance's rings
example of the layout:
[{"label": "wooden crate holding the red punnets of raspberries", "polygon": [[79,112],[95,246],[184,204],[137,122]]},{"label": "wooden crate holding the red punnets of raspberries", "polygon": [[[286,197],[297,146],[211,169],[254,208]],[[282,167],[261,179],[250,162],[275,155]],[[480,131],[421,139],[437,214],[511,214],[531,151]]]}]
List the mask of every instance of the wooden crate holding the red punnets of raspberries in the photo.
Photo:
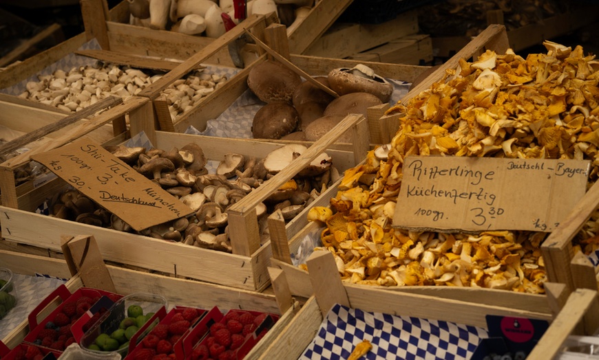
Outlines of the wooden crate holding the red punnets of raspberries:
[{"label": "wooden crate holding the red punnets of raspberries", "polygon": [[[269,330],[269,333],[249,352],[245,359],[260,357],[263,349],[282,332],[282,329],[291,322],[295,313],[301,308],[299,302],[295,302],[291,298],[282,302],[282,297],[277,298],[273,294],[244,291],[194,280],[127,270],[122,267],[105,266],[97,247],[90,246],[85,255],[82,252],[86,246],[85,241],[89,237],[76,236],[68,243],[72,254],[67,256],[67,260],[20,254],[12,251],[0,251],[0,259],[3,267],[8,267],[14,273],[24,275],[43,273],[59,278],[67,278],[69,280],[66,286],[71,292],[82,286],[87,286],[105,291],[116,291],[121,295],[151,293],[162,295],[170,305],[194,306],[205,309],[218,306],[222,311],[242,309],[281,315],[273,328]],[[72,243],[74,243],[74,246]],[[90,270],[90,268],[93,269]],[[105,275],[98,276],[94,273],[103,273]],[[57,305],[58,302],[52,302],[41,312],[41,315],[48,315]],[[9,348],[14,348],[14,346],[21,343],[29,330],[28,321],[25,319],[2,341]]]}]

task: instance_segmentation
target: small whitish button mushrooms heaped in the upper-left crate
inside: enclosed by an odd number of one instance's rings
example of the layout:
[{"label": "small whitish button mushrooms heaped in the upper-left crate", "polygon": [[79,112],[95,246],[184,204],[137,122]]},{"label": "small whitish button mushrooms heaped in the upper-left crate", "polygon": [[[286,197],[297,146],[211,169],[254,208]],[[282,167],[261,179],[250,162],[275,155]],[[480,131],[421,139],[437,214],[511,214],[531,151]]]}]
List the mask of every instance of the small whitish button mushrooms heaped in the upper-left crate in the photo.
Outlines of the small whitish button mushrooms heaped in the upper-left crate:
[{"label": "small whitish button mushrooms heaped in the upper-left crate", "polygon": [[[162,78],[162,75],[103,63],[72,67],[69,71],[57,69],[52,74],[37,76],[39,81],[27,82],[26,90],[19,97],[74,112],[111,95],[127,101]],[[171,117],[176,119],[191,110],[194,104],[224,85],[224,82],[227,82],[226,76],[207,74],[203,68],[176,80],[162,91],[167,97]]]}]

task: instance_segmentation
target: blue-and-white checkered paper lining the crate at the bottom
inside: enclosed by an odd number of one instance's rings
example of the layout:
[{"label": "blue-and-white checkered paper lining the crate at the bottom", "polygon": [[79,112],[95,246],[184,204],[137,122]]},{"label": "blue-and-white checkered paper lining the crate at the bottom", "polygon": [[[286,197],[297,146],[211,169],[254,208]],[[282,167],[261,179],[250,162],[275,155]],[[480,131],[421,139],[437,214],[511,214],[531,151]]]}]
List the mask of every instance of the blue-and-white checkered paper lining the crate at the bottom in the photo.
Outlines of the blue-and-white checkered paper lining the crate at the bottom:
[{"label": "blue-and-white checkered paper lining the crate at the bottom", "polygon": [[367,313],[335,304],[300,359],[347,359],[363,340],[366,359],[470,359],[487,331],[451,322]]}]

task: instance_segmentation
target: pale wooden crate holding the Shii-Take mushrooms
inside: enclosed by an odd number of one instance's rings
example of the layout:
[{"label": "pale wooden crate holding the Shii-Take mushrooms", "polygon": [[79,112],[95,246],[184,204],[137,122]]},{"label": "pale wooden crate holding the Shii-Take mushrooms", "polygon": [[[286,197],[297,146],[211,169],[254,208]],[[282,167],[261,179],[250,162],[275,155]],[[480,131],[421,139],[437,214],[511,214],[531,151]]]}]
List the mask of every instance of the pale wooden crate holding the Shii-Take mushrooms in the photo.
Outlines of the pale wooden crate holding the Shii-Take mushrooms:
[{"label": "pale wooden crate holding the Shii-Take mushrooms", "polygon": [[[149,104],[147,98],[140,98]],[[141,101],[141,100],[140,100]],[[151,107],[151,106],[150,106]],[[151,111],[151,109],[149,109]],[[147,117],[152,114],[146,113]],[[148,122],[146,122],[148,123]],[[151,123],[151,122],[150,122]],[[181,243],[168,243],[164,240],[156,240],[146,236],[118,232],[113,229],[94,227],[71,221],[64,221],[50,216],[43,216],[32,212],[39,205],[32,199],[45,199],[50,197],[56,189],[61,188],[64,182],[56,179],[45,183],[35,191],[25,194],[19,201],[21,205],[27,205],[20,209],[12,207],[1,207],[0,225],[2,236],[6,240],[16,243],[34,245],[43,249],[60,251],[60,238],[63,234],[94,234],[101,251],[106,260],[118,262],[125,265],[133,265],[144,269],[154,269],[164,273],[172,273],[189,278],[235,286],[240,289],[262,290],[269,284],[266,275],[266,266],[271,258],[270,243],[260,246],[260,234],[258,232],[258,219],[256,218],[255,206],[262,202],[272,192],[297,175],[317,155],[335,142],[335,139],[350,128],[354,128],[356,134],[364,133],[366,121],[363,116],[348,115],[337,125],[337,128],[308,148],[302,157],[288,166],[284,171],[266,181],[258,189],[253,190],[245,196],[242,201],[235,203],[229,212],[229,226],[231,232],[231,245],[233,254],[199,247],[190,247]],[[147,128],[146,133],[151,134]],[[185,135],[158,131],[152,142],[157,148],[169,149],[173,146],[178,148],[196,142],[204,150],[207,159],[220,161],[225,153],[232,148],[235,152],[244,155],[252,155],[258,158],[266,156],[282,144],[269,142],[253,142],[244,139],[224,139],[218,137],[200,137],[198,135]],[[121,139],[118,137],[117,139]],[[359,161],[359,155],[366,152],[368,144],[360,141],[361,137],[356,135],[355,151],[348,153],[342,150],[326,150],[332,157],[333,163],[340,171],[355,166]],[[358,155],[359,154],[359,155]],[[19,163],[20,164],[20,163]],[[12,173],[11,173],[12,175]],[[330,193],[319,197],[316,204],[328,203]],[[296,220],[291,221],[282,229],[286,234],[293,234],[306,225],[306,212],[304,210]],[[32,224],[35,223],[35,226]],[[141,252],[140,252],[141,251]],[[138,254],[132,256],[132,254]],[[168,256],[165,256],[168,254]]]}]

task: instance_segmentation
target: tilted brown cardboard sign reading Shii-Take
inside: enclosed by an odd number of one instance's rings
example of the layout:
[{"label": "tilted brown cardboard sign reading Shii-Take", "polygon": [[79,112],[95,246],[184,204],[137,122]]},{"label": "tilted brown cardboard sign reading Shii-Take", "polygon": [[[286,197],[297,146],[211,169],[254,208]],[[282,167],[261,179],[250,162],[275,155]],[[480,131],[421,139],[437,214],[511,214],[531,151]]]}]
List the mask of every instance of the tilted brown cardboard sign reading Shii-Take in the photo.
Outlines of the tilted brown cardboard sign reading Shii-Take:
[{"label": "tilted brown cardboard sign reading Shii-Take", "polygon": [[32,158],[138,231],[193,212],[91,139]]}]

